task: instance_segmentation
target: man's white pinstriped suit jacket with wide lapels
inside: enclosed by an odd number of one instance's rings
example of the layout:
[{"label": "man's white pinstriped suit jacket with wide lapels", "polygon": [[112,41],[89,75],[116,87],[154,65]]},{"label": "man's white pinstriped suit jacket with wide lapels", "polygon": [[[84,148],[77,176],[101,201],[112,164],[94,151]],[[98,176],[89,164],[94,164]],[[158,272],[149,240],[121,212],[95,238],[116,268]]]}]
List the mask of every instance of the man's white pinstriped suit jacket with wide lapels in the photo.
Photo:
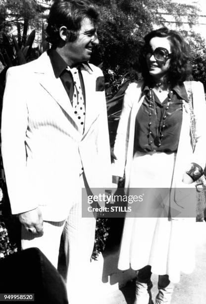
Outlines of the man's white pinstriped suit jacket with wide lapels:
[{"label": "man's white pinstriped suit jacket with wide lapels", "polygon": [[8,69],[3,97],[1,140],[13,214],[40,206],[44,220],[68,216],[79,187],[81,167],[90,187],[110,187],[110,150],[102,71],[82,70],[86,95],[85,132],[50,58]]}]

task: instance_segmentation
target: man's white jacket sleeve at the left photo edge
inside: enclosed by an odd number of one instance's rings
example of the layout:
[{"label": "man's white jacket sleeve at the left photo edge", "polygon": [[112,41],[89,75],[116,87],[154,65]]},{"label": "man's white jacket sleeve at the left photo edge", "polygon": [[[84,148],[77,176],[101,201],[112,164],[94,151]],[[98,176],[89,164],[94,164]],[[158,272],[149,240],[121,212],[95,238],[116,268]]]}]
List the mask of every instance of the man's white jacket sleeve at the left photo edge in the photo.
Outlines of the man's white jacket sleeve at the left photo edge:
[{"label": "man's white jacket sleeve at the left photo edge", "polygon": [[25,73],[20,69],[22,68],[13,67],[7,71],[1,119],[1,153],[12,214],[37,207],[27,199],[27,87],[21,77]]}]

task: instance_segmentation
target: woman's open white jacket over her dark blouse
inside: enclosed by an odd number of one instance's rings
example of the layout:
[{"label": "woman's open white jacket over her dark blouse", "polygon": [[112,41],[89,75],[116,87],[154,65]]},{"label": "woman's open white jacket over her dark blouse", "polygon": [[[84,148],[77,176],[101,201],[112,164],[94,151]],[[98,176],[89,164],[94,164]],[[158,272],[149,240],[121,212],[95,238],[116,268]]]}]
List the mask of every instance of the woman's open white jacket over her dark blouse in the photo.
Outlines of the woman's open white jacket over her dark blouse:
[{"label": "woman's open white jacket over her dark blouse", "polygon": [[[112,174],[122,177],[125,172],[125,188],[129,187],[130,170],[133,159],[135,120],[138,110],[145,98],[142,95],[143,81],[131,83],[124,96],[122,113],[117,129],[114,145],[114,154],[117,157],[112,164]],[[182,126],[176,154],[172,189],[171,206],[177,206],[178,188],[191,187],[182,182],[183,174],[190,167],[191,162],[196,162],[202,168],[206,165],[206,100],[203,84],[192,81],[193,105],[196,127],[196,148],[193,152],[190,134],[190,108],[189,103],[183,100]],[[166,168],[165,168],[166,170]],[[194,183],[192,186],[195,186]],[[175,190],[176,189],[176,190]],[[174,205],[173,205],[174,204]],[[182,208],[180,210],[182,213]]]}]

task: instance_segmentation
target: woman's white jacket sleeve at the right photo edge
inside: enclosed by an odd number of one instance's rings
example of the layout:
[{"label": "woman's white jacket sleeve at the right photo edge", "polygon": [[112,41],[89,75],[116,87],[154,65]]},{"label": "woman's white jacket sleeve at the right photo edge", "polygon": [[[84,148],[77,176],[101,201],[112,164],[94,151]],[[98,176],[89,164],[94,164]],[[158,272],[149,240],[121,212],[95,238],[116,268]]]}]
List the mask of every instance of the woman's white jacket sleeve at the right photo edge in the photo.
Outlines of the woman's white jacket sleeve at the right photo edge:
[{"label": "woman's white jacket sleeve at the right photo edge", "polygon": [[193,162],[202,168],[206,165],[206,99],[203,84],[200,81],[192,82],[193,107],[195,118],[196,146],[193,153]]}]

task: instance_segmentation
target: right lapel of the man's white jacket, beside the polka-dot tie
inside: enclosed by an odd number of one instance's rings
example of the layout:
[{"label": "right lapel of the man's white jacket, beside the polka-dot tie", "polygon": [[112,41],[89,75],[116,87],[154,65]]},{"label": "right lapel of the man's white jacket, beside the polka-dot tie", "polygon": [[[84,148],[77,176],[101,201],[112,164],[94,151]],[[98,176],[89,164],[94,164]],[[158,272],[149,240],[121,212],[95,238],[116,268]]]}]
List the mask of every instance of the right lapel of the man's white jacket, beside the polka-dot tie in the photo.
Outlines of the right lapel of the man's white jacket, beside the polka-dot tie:
[{"label": "right lapel of the man's white jacket, beside the polka-dot tie", "polygon": [[[89,73],[86,70],[82,70],[82,76],[84,79],[85,86],[85,99],[86,99],[86,116],[85,116],[85,134],[87,134],[91,125],[96,121],[100,112],[98,109],[97,98],[98,94],[96,94],[96,79],[94,72],[91,71]],[[94,78],[94,79],[92,79]]]}]

